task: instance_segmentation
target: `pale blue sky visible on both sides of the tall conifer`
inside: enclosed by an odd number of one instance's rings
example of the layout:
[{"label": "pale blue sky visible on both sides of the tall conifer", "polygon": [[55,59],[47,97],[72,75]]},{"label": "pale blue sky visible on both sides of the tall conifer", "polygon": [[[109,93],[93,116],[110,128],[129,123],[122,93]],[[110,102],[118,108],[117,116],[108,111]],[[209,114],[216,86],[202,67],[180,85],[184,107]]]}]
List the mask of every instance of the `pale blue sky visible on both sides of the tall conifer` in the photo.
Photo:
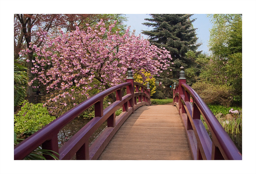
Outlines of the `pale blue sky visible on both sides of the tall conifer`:
[{"label": "pale blue sky visible on both sides of the tall conifer", "polygon": [[[140,34],[142,30],[151,30],[152,27],[148,28],[145,25],[142,25],[143,22],[147,22],[144,20],[145,18],[150,18],[148,14],[126,14],[128,18],[127,22],[124,22],[127,26],[131,26],[131,31],[135,29],[136,34]],[[209,40],[209,29],[211,29],[212,24],[210,22],[210,18],[206,17],[206,14],[194,14],[191,18],[197,18],[195,22],[193,22],[194,28],[197,28],[196,33],[198,37],[198,42],[202,43],[202,45],[198,48],[198,51],[203,51],[205,53],[209,53],[207,47],[207,41]],[[145,39],[146,35],[141,34]]]}]

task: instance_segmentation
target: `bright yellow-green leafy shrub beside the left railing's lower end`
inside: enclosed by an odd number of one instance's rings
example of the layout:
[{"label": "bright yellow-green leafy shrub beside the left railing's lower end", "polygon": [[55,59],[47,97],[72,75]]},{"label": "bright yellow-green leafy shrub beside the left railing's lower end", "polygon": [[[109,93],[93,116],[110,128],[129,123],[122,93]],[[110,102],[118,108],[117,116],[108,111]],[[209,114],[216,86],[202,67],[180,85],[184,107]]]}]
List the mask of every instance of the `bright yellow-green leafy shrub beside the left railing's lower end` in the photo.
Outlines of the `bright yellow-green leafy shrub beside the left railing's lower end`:
[{"label": "bright yellow-green leafy shrub beside the left railing's lower end", "polygon": [[47,108],[43,107],[42,103],[34,105],[24,100],[22,104],[21,110],[14,115],[14,131],[17,134],[26,131],[37,131],[55,120],[55,117],[50,116]]}]

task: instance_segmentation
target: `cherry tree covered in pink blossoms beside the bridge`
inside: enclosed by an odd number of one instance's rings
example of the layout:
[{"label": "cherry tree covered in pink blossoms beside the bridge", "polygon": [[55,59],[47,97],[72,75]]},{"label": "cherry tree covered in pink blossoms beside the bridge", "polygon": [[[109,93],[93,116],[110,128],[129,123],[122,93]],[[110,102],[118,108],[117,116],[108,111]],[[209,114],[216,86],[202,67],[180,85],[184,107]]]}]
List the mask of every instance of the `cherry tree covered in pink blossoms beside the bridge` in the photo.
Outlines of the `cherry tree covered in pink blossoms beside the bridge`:
[{"label": "cherry tree covered in pink blossoms beside the bridge", "polygon": [[[72,92],[75,92],[73,85],[81,88],[81,95],[89,98],[88,91],[92,88],[104,90],[123,83],[128,66],[132,67],[134,73],[146,78],[142,72],[157,75],[172,60],[165,48],[159,49],[140,36],[135,36],[134,32],[129,32],[130,28],[120,35],[118,30],[112,32],[115,23],[109,25],[108,29],[103,20],[94,29],[86,25],[84,30],[78,26],[75,31],[67,33],[60,30],[60,35],[54,38],[41,30],[37,34],[45,42],[44,46],[29,46],[37,54],[31,68],[35,78],[29,85],[33,86],[33,82],[38,81],[39,85],[46,86],[47,93],[55,90],[60,92],[49,101],[72,96]],[[30,50],[26,49],[25,52],[29,53]]]}]

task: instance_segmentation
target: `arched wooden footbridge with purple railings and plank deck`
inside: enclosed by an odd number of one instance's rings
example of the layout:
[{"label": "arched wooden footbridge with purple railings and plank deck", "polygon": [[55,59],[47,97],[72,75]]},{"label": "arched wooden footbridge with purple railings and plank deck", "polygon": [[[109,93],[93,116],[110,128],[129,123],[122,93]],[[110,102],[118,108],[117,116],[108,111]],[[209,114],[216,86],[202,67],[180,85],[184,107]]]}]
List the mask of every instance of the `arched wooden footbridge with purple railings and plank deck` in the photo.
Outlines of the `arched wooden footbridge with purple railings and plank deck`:
[{"label": "arched wooden footbridge with purple railings and plank deck", "polygon": [[[14,159],[25,158],[42,145],[60,160],[241,160],[242,155],[199,95],[186,84],[181,67],[179,84],[174,85],[173,106],[151,106],[150,89],[136,83],[128,68],[126,83],[113,86],[80,103],[14,147]],[[127,95],[122,96],[126,88]],[[116,93],[116,101],[103,110],[103,98]],[[190,103],[190,97],[193,104]],[[95,117],[58,147],[60,129],[89,107]],[[123,112],[115,116],[115,111]],[[209,137],[200,115],[206,121]],[[90,136],[107,120],[108,126],[89,144]],[[55,154],[55,153],[54,153]],[[57,154],[55,154],[57,155]],[[58,156],[58,155],[57,155]],[[46,159],[52,159],[46,155]]]}]

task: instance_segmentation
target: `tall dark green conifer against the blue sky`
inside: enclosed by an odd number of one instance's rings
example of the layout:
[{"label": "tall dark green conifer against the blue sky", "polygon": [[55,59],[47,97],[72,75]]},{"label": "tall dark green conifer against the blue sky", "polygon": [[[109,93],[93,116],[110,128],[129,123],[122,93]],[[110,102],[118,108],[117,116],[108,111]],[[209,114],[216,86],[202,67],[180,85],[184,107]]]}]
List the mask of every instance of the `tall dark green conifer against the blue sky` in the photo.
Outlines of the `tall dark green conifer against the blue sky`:
[{"label": "tall dark green conifer against the blue sky", "polygon": [[164,86],[168,87],[174,82],[177,83],[180,67],[188,68],[191,66],[191,60],[187,59],[186,53],[190,50],[199,54],[197,48],[196,29],[193,27],[191,14],[150,14],[151,18],[143,23],[153,30],[143,31],[142,33],[149,36],[148,40],[157,47],[163,47],[170,51],[173,59],[172,71],[169,69],[163,71],[156,79],[161,81]]}]

